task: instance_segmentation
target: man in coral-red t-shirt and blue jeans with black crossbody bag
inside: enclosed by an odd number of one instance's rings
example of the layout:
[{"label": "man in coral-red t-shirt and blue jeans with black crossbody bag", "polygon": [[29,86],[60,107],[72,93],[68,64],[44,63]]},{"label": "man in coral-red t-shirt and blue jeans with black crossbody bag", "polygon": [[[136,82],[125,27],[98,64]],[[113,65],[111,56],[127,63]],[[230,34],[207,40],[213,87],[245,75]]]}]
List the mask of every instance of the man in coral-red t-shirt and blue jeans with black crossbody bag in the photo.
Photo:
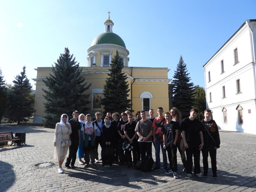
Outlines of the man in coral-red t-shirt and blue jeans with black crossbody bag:
[{"label": "man in coral-red t-shirt and blue jeans with black crossbody bag", "polygon": [[[158,107],[157,108],[157,113],[158,117],[156,117],[153,121],[153,142],[155,143],[155,154],[156,154],[156,166],[153,169],[153,171],[160,170],[160,147],[162,150],[163,154],[163,164],[164,164],[164,171],[165,173],[169,172],[168,169],[168,163],[167,163],[167,155],[166,155],[166,150],[164,149],[164,139],[163,139],[163,134],[162,134],[162,129],[164,124],[166,123],[166,119],[163,117],[163,108]],[[159,137],[156,137],[159,135]]]}]

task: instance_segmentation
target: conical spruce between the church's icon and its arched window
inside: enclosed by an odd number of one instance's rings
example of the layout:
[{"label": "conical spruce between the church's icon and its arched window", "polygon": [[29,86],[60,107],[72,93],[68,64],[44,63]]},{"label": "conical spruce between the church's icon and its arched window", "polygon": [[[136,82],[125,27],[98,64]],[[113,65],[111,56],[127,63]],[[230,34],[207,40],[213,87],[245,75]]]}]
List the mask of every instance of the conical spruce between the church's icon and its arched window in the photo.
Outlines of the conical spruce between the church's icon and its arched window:
[{"label": "conical spruce between the church's icon and its arched window", "polygon": [[127,99],[129,96],[128,92],[130,91],[126,81],[127,76],[122,72],[123,63],[117,50],[110,66],[109,77],[106,78],[104,85],[104,98],[101,99],[101,104],[104,105],[104,115],[107,112],[119,112],[121,114],[132,107],[131,100]]}]

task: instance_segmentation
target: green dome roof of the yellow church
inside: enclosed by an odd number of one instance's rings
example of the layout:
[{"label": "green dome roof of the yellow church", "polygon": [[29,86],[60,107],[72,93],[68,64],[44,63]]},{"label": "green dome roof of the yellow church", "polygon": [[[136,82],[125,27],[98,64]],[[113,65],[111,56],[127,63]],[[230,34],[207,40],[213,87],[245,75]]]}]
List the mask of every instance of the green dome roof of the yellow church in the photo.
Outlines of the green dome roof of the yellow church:
[{"label": "green dome roof of the yellow church", "polygon": [[104,32],[95,37],[91,47],[99,44],[114,44],[126,48],[123,39],[112,32]]}]

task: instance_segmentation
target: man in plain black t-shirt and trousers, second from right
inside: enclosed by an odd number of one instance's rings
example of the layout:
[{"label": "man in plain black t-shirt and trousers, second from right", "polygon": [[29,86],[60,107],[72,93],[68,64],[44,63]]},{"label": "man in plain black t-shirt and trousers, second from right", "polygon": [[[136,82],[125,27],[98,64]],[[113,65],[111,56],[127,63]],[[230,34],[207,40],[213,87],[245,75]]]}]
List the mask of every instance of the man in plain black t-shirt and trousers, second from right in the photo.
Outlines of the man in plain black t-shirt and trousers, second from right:
[{"label": "man in plain black t-shirt and trousers, second from right", "polygon": [[202,123],[195,119],[198,114],[198,109],[191,109],[190,116],[182,121],[182,136],[184,147],[186,148],[186,172],[187,177],[192,177],[192,166],[194,156],[194,174],[202,178],[200,174],[200,150],[204,146],[204,138],[202,133]]}]

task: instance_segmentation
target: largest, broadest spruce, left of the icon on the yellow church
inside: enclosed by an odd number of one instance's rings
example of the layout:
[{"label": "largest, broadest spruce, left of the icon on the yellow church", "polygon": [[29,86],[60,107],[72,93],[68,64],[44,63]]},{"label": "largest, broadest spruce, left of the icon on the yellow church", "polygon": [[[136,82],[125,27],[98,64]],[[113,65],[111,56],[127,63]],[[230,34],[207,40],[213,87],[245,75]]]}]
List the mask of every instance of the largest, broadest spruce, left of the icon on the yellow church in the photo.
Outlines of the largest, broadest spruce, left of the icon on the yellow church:
[{"label": "largest, broadest spruce, left of the icon on the yellow church", "polygon": [[52,65],[53,75],[50,74],[50,77],[43,80],[48,88],[48,90],[43,89],[44,98],[47,100],[44,103],[45,115],[43,116],[45,127],[55,128],[63,113],[66,113],[70,119],[75,110],[85,114],[89,110],[86,105],[90,103],[88,101],[90,94],[84,92],[91,84],[87,86],[87,83],[84,83],[85,77],[81,77],[82,69],[79,69],[79,63],[75,59],[73,54],[69,54],[69,49],[65,48],[65,52],[60,54],[57,63],[54,63],[55,67]]}]

